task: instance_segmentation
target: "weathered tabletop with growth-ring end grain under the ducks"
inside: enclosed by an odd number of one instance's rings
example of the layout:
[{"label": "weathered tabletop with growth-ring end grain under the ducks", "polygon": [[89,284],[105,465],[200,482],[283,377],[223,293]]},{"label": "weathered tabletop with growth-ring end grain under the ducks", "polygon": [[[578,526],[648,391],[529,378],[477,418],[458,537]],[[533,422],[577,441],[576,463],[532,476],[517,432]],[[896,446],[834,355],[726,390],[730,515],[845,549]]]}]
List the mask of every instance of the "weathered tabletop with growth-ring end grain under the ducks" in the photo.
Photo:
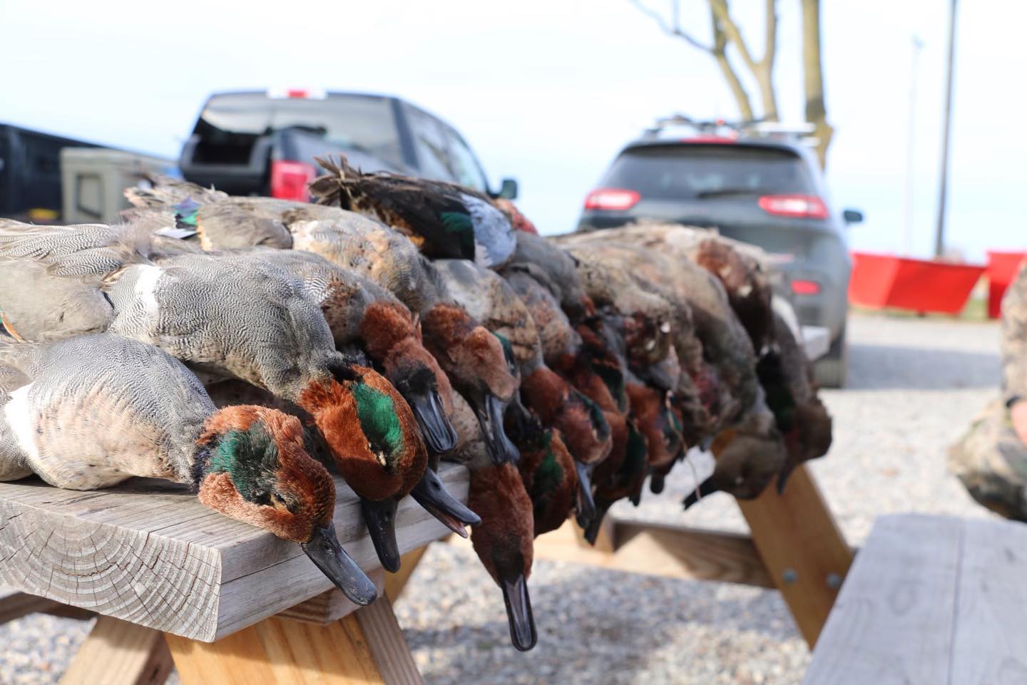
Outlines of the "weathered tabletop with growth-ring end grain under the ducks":
[{"label": "weathered tabletop with growth-ring end grain under the ducks", "polygon": [[[466,501],[466,470],[444,464]],[[378,568],[353,492],[336,481],[339,540]],[[396,516],[401,551],[447,534],[411,498]],[[38,480],[0,483],[0,583],[197,640],[214,640],[332,587],[298,545],[202,506],[188,491],[132,481],[100,492]]]}]

